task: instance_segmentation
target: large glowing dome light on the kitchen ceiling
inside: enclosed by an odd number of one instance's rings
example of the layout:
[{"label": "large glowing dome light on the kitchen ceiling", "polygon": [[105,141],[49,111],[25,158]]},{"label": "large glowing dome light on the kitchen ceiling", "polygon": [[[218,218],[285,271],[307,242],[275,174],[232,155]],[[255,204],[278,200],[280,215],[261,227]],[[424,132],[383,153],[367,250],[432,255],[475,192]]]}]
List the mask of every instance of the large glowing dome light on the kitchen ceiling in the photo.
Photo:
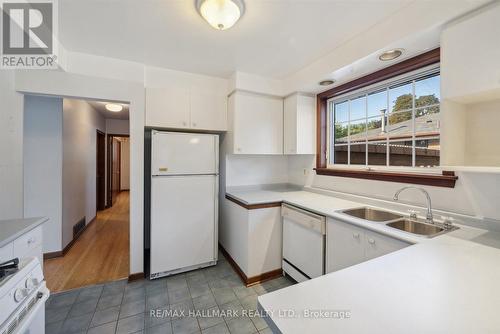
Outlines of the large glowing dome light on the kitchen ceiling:
[{"label": "large glowing dome light on the kitchen ceiling", "polygon": [[217,30],[231,28],[245,12],[243,0],[196,0],[200,15]]}]

